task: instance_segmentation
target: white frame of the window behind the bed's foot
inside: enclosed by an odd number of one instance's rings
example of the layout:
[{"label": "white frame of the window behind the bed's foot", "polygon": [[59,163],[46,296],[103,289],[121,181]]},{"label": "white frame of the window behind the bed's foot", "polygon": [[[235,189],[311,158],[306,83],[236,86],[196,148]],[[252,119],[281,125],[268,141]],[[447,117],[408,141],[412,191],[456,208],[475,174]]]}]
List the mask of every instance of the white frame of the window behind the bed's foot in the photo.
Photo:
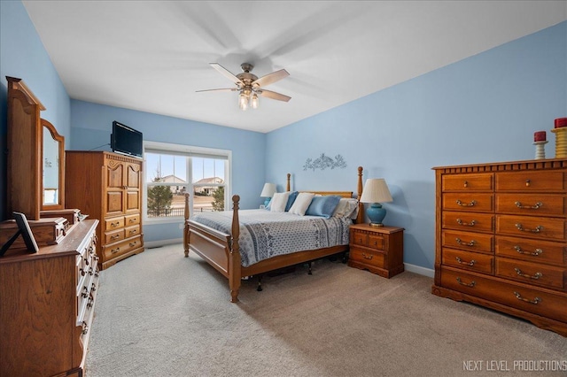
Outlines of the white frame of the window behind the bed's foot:
[{"label": "white frame of the window behind the bed's foot", "polygon": [[[164,218],[149,218],[148,217],[148,185],[147,176],[149,173],[146,161],[145,153],[146,150],[151,152],[163,152],[164,154],[175,153],[177,155],[184,155],[187,157],[202,157],[202,158],[226,158],[227,164],[225,165],[224,181],[224,208],[225,210],[229,207],[229,198],[232,197],[232,150],[219,150],[214,148],[196,147],[183,144],[174,144],[170,142],[151,142],[144,141],[144,200],[142,201],[142,210],[144,212],[144,224],[165,224],[165,223],[179,223],[179,217],[164,217]],[[192,164],[187,166],[187,190],[191,193],[190,195],[190,208],[193,208],[193,180],[192,180]],[[210,185],[207,185],[210,186]],[[183,218],[181,219],[183,223]]]}]

